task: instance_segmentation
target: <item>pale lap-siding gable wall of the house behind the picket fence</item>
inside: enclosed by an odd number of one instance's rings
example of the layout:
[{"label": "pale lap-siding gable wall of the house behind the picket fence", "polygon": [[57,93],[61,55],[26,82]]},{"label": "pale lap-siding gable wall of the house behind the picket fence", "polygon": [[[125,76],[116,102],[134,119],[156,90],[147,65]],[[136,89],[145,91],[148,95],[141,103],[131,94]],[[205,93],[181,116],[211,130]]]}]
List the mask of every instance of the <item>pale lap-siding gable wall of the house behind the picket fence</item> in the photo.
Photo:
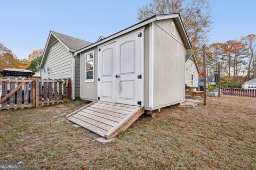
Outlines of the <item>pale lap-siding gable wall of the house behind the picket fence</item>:
[{"label": "pale lap-siding gable wall of the house behind the picket fence", "polygon": [[[50,66],[50,72],[44,72],[44,67]],[[72,53],[68,52],[59,41],[54,43],[46,57],[45,64],[41,68],[42,79],[71,78]]]}]

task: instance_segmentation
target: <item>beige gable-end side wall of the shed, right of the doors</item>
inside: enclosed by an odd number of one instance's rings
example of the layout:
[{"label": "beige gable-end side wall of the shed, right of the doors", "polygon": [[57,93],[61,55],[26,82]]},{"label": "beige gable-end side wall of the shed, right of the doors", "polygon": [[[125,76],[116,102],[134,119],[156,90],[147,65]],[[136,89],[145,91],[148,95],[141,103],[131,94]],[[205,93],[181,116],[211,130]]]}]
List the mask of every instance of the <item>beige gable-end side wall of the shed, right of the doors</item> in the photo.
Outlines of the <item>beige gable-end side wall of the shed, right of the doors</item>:
[{"label": "beige gable-end side wall of the shed, right of the doors", "polygon": [[164,22],[154,24],[154,108],[185,99],[185,47]]}]

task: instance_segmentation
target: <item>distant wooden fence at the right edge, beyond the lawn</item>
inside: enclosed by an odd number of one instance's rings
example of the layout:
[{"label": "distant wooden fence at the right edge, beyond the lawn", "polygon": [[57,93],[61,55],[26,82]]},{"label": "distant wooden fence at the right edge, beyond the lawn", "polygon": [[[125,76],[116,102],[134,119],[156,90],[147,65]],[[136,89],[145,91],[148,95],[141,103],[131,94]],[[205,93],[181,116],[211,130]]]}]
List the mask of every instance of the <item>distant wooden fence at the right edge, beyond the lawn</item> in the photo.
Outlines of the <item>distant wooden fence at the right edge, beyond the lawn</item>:
[{"label": "distant wooden fence at the right edge, beyond the lawn", "polygon": [[239,89],[239,88],[222,88],[223,95],[242,96],[242,97],[256,97],[256,90],[254,89]]}]

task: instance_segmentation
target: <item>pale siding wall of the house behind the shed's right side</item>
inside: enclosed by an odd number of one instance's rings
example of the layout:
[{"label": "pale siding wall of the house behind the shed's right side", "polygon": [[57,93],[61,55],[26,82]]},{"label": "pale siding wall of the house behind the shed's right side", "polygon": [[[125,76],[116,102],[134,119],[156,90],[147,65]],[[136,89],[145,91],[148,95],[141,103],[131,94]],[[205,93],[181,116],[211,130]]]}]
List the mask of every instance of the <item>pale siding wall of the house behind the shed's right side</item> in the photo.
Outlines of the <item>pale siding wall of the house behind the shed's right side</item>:
[{"label": "pale siding wall of the house behind the shed's right side", "polygon": [[194,77],[193,87],[198,87],[198,72],[196,69],[196,64],[193,60],[189,58],[189,60],[185,64],[185,83],[187,86],[192,86],[191,84],[191,75]]}]

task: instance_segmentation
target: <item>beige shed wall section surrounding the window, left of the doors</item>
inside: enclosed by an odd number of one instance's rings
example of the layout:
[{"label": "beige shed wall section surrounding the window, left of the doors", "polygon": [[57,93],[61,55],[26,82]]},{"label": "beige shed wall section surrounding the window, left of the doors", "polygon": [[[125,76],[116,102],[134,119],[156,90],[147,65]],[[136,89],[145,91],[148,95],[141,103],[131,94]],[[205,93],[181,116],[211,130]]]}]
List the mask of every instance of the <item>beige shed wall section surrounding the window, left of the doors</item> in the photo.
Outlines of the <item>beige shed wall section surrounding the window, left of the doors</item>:
[{"label": "beige shed wall section surrounding the window, left of the doors", "polygon": [[[94,82],[84,82],[85,79],[85,53],[95,49],[94,52]],[[98,48],[93,47],[81,53],[81,98],[86,100],[97,100],[98,86]]]}]

